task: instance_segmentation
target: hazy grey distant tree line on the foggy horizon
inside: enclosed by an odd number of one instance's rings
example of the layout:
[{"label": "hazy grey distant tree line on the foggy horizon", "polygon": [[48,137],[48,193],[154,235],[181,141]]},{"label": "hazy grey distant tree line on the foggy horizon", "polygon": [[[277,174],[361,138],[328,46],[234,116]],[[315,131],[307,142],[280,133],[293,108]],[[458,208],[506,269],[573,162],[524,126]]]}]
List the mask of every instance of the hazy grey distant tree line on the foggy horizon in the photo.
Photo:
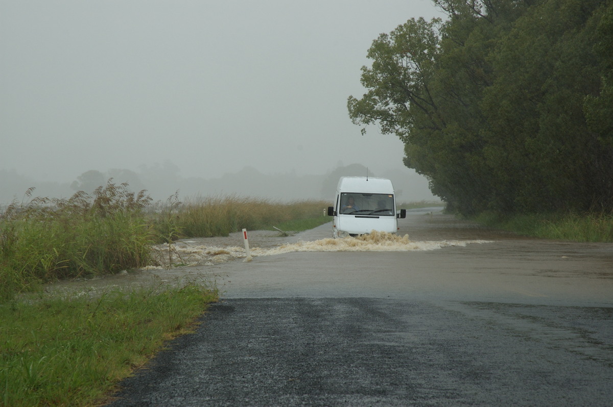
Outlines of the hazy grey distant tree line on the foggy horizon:
[{"label": "hazy grey distant tree line on the foggy horizon", "polygon": [[[146,190],[154,201],[164,201],[178,194],[182,201],[210,196],[242,196],[273,201],[332,200],[340,176],[368,176],[389,178],[399,202],[440,201],[428,189],[427,180],[408,168],[373,171],[359,164],[341,165],[325,174],[299,175],[296,173],[264,174],[251,166],[245,166],[234,173],[221,177],[181,177],[179,168],[173,163],[143,166],[140,171],[110,169],[89,170],[72,182],[37,181],[20,176],[15,171],[0,169],[0,206],[12,201],[28,202],[40,196],[48,198],[69,198],[77,191],[91,194],[96,187],[107,182],[128,184],[132,192]],[[26,192],[31,187],[31,197]]]}]

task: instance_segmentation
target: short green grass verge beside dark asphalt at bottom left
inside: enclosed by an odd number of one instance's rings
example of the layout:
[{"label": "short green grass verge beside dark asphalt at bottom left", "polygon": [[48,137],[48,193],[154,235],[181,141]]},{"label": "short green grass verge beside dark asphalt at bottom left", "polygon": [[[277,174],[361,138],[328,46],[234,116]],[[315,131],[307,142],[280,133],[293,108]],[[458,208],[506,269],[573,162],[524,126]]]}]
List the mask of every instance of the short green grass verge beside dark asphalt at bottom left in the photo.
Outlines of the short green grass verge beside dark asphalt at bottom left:
[{"label": "short green grass verge beside dark asphalt at bottom left", "polygon": [[96,405],[215,300],[187,285],[4,302],[0,405]]}]

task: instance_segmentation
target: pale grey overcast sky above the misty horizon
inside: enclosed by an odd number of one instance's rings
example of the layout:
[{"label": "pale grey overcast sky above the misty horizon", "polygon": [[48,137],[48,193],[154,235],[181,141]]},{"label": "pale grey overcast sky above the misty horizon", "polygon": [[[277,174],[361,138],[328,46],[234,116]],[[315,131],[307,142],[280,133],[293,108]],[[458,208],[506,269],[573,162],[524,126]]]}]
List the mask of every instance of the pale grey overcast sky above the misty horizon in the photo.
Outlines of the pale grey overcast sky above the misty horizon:
[{"label": "pale grey overcast sky above the misty horizon", "polygon": [[183,177],[403,168],[351,124],[371,42],[430,0],[0,0],[0,169],[69,182],[166,160]]}]

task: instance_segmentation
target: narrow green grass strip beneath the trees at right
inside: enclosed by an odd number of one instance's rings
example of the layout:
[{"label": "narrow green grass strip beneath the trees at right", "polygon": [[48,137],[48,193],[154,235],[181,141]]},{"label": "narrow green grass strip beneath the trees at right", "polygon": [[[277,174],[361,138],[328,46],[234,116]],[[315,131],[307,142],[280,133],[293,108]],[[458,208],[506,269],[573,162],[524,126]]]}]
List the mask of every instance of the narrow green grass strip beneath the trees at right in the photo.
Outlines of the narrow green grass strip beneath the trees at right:
[{"label": "narrow green grass strip beneath the trees at right", "polygon": [[613,242],[613,214],[500,215],[486,212],[474,220],[525,236],[576,242]]}]

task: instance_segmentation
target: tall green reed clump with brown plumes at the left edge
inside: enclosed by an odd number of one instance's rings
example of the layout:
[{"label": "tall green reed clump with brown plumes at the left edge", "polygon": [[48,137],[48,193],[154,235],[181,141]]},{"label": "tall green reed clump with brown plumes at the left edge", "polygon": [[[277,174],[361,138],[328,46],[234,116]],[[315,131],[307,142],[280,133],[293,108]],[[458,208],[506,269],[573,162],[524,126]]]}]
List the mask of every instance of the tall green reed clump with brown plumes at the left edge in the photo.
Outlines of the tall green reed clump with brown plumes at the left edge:
[{"label": "tall green reed clump with brown plumes at the left edge", "polygon": [[59,278],[146,266],[151,228],[142,210],[150,201],[109,180],[92,195],[13,202],[0,216],[0,297]]}]

